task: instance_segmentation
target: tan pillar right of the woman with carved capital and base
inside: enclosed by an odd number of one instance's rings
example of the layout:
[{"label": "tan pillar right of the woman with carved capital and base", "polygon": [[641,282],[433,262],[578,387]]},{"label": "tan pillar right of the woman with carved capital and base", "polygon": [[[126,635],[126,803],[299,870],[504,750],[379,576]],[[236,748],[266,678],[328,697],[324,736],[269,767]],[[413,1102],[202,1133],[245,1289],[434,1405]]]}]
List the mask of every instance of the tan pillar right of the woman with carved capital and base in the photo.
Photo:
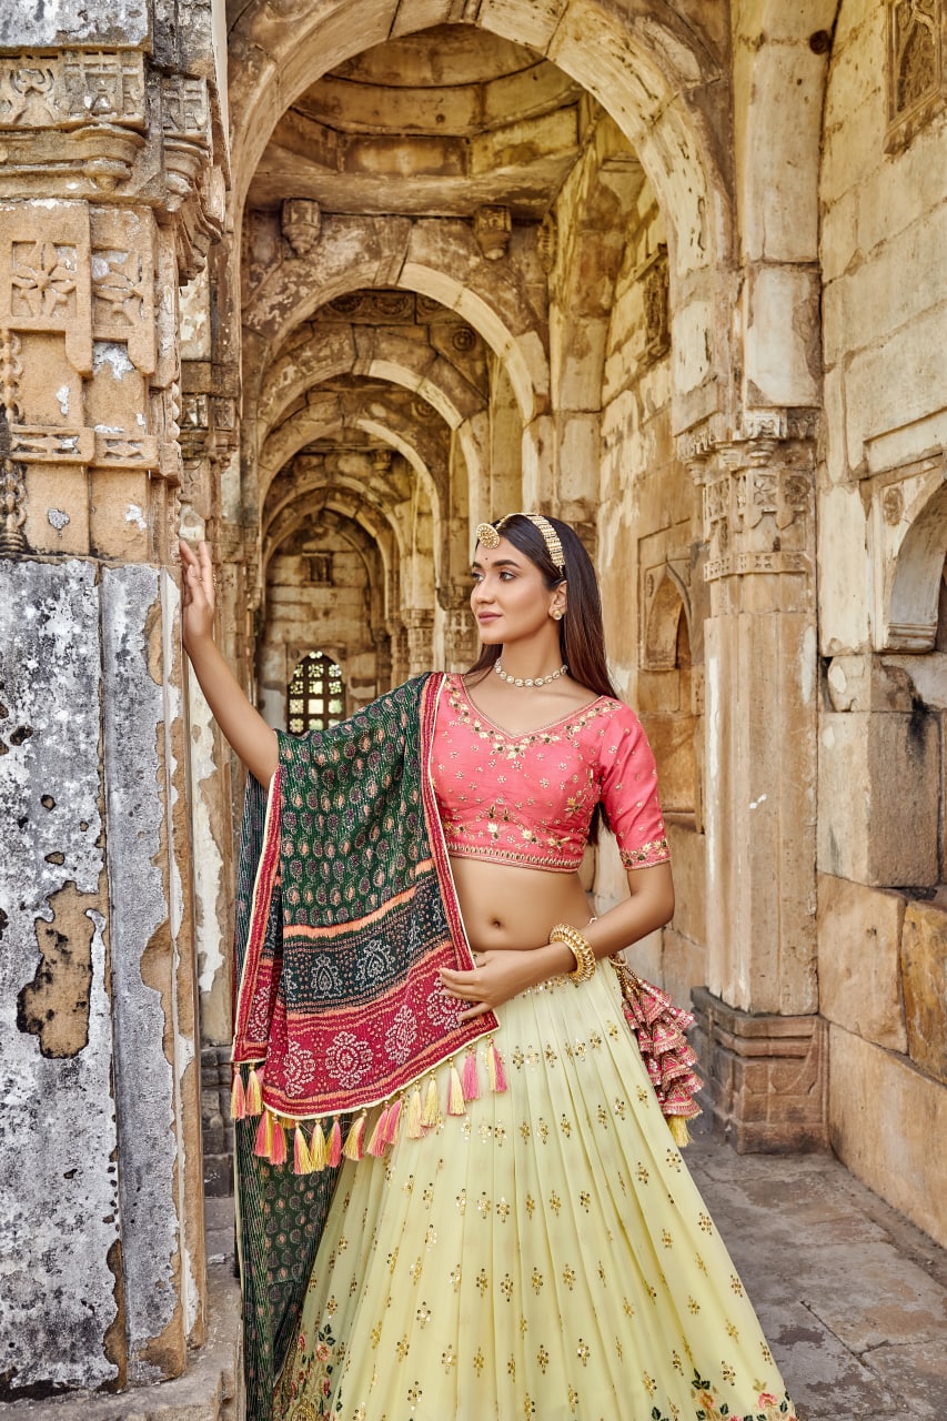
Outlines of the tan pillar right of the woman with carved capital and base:
[{"label": "tan pillar right of the woman with carved capital and base", "polygon": [[[741,1073],[731,1069],[735,1047],[729,1056],[714,1047],[704,1064],[715,1117],[735,1128],[744,1148],[805,1147],[813,1138],[812,1101],[822,1100],[812,1070],[798,1069],[796,1049],[801,1037],[815,1040],[818,1010],[812,439],[802,422],[758,416],[735,438],[691,449],[688,462],[702,489],[711,601],[704,630],[708,988],[732,1016],[729,1037],[752,1037],[755,1060],[752,1073]],[[752,1030],[734,1025],[744,1019]],[[701,1029],[712,1043],[710,1017]],[[783,1060],[786,1042],[795,1066]],[[818,1050],[813,1069],[822,1079]],[[766,1096],[776,1118],[754,1133],[749,1120]]]}]

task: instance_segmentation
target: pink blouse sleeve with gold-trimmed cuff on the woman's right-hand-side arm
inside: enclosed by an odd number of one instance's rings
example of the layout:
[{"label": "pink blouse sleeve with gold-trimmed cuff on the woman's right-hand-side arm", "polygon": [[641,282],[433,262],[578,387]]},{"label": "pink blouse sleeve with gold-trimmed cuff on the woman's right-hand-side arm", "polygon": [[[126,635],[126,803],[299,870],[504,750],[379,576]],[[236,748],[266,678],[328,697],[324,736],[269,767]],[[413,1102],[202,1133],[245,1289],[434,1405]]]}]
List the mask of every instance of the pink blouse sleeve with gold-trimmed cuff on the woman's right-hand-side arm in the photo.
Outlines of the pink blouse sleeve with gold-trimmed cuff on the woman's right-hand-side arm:
[{"label": "pink blouse sleeve with gold-trimmed cuff on the woman's right-hand-side arm", "polygon": [[620,703],[601,745],[601,804],[626,868],[667,863],[671,850],[657,790],[657,766],[641,722]]}]

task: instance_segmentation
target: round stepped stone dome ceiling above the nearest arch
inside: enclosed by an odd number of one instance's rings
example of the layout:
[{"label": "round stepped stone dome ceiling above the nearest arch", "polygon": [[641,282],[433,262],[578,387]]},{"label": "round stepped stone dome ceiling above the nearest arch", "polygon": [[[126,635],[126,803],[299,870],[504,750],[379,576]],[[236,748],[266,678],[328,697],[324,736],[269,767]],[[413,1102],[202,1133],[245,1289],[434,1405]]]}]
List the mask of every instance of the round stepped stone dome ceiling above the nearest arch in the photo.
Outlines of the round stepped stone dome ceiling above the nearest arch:
[{"label": "round stepped stone dome ceiling above the nearest arch", "polygon": [[[532,50],[437,26],[323,75],[276,125],[252,207],[540,220],[580,152],[583,91]],[[587,98],[584,99],[587,104]]]}]

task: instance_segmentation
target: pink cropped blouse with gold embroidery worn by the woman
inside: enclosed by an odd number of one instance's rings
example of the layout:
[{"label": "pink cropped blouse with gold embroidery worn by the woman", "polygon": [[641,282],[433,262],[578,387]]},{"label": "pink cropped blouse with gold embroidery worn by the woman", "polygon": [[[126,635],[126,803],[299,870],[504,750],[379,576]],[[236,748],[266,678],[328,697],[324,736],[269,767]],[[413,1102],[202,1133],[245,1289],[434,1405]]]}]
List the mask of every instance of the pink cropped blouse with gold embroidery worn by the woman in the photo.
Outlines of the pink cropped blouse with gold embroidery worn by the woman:
[{"label": "pink cropped blouse with gold embroidery worn by the woman", "polygon": [[610,696],[529,735],[476,709],[461,675],[441,692],[434,791],[448,853],[574,872],[601,803],[626,868],[670,858],[654,756],[630,706]]}]

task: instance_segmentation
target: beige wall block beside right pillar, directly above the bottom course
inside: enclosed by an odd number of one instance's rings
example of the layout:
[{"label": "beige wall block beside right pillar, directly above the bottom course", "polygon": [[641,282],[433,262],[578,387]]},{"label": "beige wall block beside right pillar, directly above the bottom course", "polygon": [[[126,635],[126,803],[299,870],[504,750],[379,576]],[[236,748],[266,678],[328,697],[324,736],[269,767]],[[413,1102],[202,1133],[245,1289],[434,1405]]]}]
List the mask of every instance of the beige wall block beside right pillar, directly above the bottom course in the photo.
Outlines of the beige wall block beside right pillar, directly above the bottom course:
[{"label": "beige wall block beside right pillar, directly above the bottom course", "polygon": [[906,1052],[899,946],[904,899],[819,875],[819,1010],[856,1036]]}]

